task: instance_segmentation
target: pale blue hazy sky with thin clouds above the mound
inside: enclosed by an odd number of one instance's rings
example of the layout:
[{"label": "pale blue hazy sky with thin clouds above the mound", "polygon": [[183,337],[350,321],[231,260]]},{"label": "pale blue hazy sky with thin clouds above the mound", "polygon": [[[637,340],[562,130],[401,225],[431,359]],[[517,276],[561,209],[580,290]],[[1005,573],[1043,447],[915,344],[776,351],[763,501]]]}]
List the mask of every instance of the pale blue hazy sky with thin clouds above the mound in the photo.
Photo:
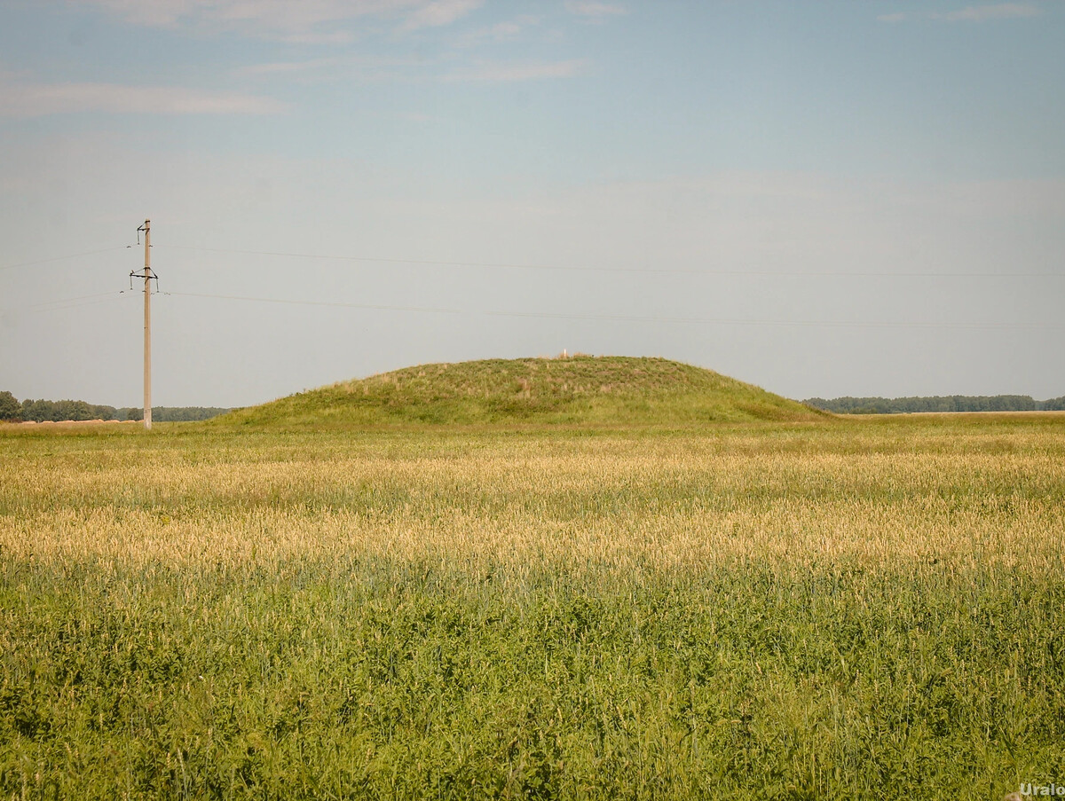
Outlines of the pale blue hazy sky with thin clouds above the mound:
[{"label": "pale blue hazy sky with thin clouds above the mound", "polygon": [[[1065,395],[1065,0],[0,0],[0,390]],[[143,240],[140,240],[143,243]]]}]

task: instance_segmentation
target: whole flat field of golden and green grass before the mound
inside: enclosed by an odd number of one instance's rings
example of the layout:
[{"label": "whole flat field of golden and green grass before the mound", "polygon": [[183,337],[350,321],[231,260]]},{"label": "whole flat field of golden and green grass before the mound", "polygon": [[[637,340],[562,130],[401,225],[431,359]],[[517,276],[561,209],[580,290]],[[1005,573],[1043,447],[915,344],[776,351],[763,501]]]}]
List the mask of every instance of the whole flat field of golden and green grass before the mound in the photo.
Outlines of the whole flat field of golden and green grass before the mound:
[{"label": "whole flat field of golden and green grass before the mound", "polygon": [[1065,783],[1065,416],[0,428],[0,798]]}]

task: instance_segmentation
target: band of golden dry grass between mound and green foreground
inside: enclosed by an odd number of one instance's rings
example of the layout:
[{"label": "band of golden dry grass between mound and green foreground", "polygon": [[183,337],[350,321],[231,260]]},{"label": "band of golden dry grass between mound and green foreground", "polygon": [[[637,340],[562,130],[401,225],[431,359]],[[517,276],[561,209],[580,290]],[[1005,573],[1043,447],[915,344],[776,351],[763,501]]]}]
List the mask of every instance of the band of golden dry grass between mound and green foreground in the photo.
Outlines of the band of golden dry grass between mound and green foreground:
[{"label": "band of golden dry grass between mound and green foreground", "polygon": [[242,447],[220,435],[215,451],[70,449],[6,471],[0,547],[124,563],[348,554],[615,571],[1061,563],[1054,424],[924,429],[913,442],[861,426],[776,430],[788,434],[471,436],[424,452],[343,437]]}]

